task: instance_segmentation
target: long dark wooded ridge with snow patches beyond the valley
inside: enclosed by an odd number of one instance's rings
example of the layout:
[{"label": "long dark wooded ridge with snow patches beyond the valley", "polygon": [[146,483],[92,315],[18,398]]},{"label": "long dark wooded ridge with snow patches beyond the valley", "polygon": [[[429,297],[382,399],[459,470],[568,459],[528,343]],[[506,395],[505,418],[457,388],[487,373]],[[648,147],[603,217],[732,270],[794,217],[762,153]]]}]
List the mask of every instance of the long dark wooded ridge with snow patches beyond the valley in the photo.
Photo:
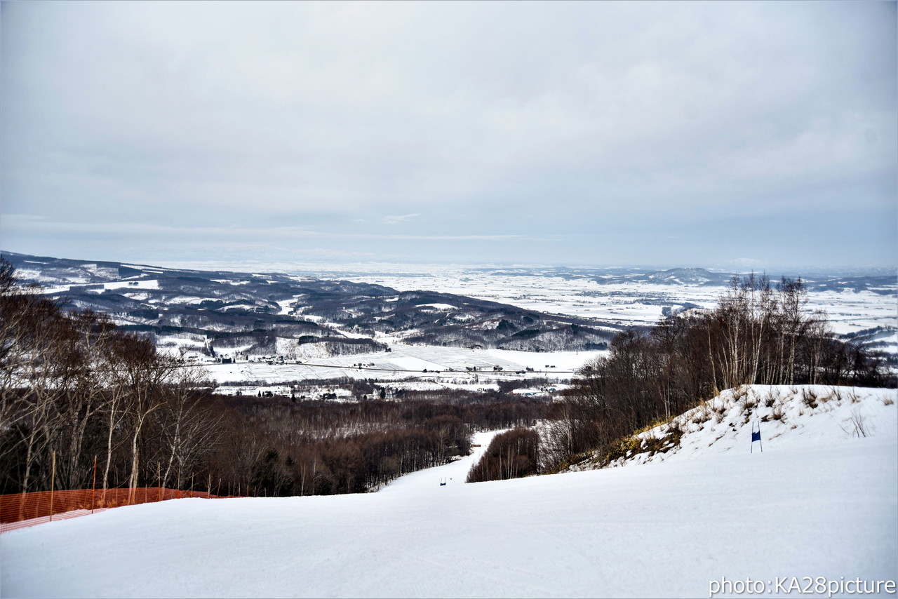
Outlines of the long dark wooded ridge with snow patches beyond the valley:
[{"label": "long dark wooded ridge with snow patches beyond the valley", "polygon": [[409,343],[524,351],[606,347],[620,325],[432,291],[277,273],[166,269],[4,252],[23,280],[157,344],[208,355],[322,357]]}]

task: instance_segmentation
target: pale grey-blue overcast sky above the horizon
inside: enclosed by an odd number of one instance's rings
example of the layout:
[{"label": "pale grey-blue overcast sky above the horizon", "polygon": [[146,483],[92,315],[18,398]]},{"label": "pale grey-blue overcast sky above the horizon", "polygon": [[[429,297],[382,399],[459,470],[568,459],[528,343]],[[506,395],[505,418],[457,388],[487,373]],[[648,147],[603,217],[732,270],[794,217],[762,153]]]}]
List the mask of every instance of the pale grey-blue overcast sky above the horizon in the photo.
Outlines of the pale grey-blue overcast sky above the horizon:
[{"label": "pale grey-blue overcast sky above the horizon", "polygon": [[896,4],[2,4],[6,251],[894,265]]}]

